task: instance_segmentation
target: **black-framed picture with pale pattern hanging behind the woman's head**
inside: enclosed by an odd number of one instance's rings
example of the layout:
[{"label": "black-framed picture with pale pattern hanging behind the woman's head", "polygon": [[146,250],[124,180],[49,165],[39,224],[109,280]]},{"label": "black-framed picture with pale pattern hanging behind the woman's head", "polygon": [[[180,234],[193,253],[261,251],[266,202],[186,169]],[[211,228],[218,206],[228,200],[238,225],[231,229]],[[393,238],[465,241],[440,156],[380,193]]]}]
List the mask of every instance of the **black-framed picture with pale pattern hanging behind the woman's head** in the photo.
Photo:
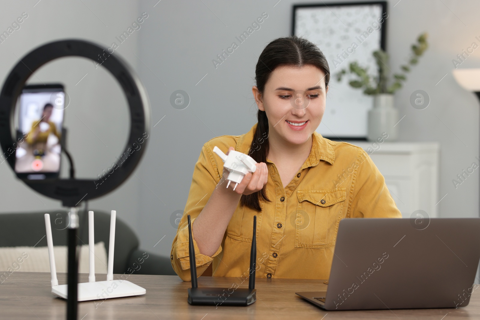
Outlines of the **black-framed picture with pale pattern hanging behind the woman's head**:
[{"label": "black-framed picture with pale pattern hanging behind the woman's head", "polygon": [[366,140],[367,113],[373,97],[352,88],[336,73],[357,61],[376,74],[373,51],[385,50],[386,1],[293,6],[292,35],[315,43],[330,68],[324,117],[317,132],[332,140]]}]

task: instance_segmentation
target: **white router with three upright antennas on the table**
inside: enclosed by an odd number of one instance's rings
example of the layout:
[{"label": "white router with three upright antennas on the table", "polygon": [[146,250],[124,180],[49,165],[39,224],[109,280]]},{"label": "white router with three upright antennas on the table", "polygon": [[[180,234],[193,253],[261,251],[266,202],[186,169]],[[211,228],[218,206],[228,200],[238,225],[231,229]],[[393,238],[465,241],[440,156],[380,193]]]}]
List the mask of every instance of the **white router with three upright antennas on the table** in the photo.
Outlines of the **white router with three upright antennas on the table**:
[{"label": "white router with three upright antennas on the table", "polygon": [[[88,212],[88,249],[89,249],[89,275],[88,282],[78,284],[78,301],[103,300],[107,298],[119,298],[122,296],[141,296],[146,290],[139,285],[132,284],[127,280],[113,280],[113,251],[115,247],[115,220],[117,212],[112,210],[110,216],[110,244],[108,247],[108,270],[107,281],[95,281],[95,241],[93,211]],[[57,268],[53,254],[52,228],[50,215],[45,214],[45,229],[47,230],[48,258],[50,260],[50,273],[52,293],[61,298],[67,298],[67,284],[60,284],[57,280]]]}]

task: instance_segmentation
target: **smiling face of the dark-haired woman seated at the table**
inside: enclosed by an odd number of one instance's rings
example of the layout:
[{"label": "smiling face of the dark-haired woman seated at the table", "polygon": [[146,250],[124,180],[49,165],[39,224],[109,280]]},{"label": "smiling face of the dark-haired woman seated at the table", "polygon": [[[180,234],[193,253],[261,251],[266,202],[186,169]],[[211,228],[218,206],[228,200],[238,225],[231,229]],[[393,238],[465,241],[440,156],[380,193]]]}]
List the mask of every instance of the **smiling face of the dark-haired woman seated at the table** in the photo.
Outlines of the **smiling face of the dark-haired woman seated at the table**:
[{"label": "smiling face of the dark-haired woman seated at the table", "polygon": [[292,144],[306,142],[325,112],[325,73],[312,65],[276,68],[262,95],[252,88],[258,108],[266,112],[268,135]]}]

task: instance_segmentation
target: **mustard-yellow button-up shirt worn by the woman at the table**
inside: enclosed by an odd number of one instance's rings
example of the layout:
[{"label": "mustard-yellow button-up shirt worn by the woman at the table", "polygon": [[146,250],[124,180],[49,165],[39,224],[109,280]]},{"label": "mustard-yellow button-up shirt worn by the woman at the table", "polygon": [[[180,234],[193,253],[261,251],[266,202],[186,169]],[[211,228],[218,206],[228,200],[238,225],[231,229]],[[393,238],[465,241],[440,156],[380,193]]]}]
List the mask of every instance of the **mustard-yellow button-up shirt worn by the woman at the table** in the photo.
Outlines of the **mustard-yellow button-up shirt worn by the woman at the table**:
[{"label": "mustard-yellow button-up shirt worn by the woman at the table", "polygon": [[[248,154],[257,124],[241,136],[224,135],[206,142],[193,171],[184,215],[171,250],[173,269],[190,281],[188,224],[200,214],[219,182],[222,159],[214,146]],[[273,162],[267,159],[266,194],[261,212],[239,203],[221,246],[213,256],[200,253],[193,238],[197,276],[213,263],[213,276],[248,277],[253,216],[257,216],[256,277],[328,279],[338,223],[343,218],[401,217],[385,180],[370,156],[347,142],[312,134],[312,149],[297,175],[283,188]],[[223,186],[223,185],[222,185]]]}]

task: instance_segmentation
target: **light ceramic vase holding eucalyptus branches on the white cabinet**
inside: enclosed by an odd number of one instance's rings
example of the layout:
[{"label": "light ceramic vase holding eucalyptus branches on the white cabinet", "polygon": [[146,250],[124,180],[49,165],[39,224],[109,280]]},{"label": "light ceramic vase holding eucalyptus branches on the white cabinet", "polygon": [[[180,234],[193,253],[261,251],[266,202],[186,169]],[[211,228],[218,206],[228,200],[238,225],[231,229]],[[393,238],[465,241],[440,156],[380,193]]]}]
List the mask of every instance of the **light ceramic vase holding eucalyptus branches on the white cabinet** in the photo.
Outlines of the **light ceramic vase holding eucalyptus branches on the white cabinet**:
[{"label": "light ceramic vase holding eucalyptus branches on the white cabinet", "polygon": [[373,96],[373,108],[368,111],[369,141],[385,138],[387,141],[396,141],[398,136],[398,110],[394,107],[393,95],[379,94]]}]

